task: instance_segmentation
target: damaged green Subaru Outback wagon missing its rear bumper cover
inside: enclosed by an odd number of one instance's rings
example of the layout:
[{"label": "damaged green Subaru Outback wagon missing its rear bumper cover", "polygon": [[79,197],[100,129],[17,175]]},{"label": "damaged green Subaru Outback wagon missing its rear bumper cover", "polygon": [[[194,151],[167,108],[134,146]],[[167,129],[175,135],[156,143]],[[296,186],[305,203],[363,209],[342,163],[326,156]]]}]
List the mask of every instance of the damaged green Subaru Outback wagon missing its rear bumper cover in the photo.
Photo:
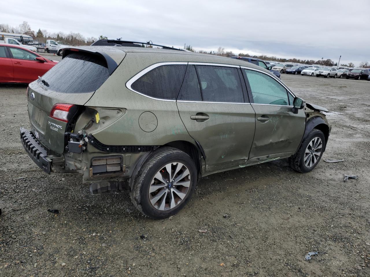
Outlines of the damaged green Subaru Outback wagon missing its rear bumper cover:
[{"label": "damaged green Subaru Outback wagon missing its rear bumper cover", "polygon": [[327,110],[269,71],[168,49],[65,48],[27,98],[21,142],[42,170],[80,174],[92,193],[129,192],[155,219],[209,174],[282,158],[309,172],[330,133]]}]

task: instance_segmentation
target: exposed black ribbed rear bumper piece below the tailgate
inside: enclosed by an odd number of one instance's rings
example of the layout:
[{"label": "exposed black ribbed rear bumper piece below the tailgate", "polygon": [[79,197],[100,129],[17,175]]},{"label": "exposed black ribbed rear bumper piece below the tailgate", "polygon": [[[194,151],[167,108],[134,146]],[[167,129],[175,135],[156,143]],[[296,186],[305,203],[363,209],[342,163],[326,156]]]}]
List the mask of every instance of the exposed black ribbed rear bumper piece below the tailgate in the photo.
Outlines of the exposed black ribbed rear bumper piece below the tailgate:
[{"label": "exposed black ribbed rear bumper piece below the tailgate", "polygon": [[41,146],[34,134],[24,128],[20,128],[20,136],[24,150],[30,158],[47,174],[51,171],[51,160],[47,158],[47,151]]}]

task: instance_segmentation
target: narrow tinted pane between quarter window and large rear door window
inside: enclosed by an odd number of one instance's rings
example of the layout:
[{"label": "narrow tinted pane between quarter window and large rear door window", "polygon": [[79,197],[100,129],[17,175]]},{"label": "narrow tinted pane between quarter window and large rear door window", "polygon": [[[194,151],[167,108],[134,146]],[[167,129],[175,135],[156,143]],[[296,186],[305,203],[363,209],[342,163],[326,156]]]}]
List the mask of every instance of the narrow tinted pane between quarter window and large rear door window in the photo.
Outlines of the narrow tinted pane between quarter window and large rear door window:
[{"label": "narrow tinted pane between quarter window and large rear door window", "polygon": [[184,82],[182,82],[177,100],[202,101],[201,88],[194,65],[188,65],[186,68]]}]

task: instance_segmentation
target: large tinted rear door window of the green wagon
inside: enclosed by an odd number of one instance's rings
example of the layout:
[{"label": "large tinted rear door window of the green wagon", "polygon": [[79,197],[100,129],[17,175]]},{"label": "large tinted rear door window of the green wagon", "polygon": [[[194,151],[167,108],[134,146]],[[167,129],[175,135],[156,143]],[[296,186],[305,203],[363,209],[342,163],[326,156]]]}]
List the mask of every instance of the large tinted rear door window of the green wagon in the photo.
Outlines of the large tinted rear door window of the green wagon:
[{"label": "large tinted rear door window of the green wagon", "polygon": [[[243,103],[243,89],[238,68],[196,65],[203,101]],[[240,70],[240,69],[239,69]]]}]

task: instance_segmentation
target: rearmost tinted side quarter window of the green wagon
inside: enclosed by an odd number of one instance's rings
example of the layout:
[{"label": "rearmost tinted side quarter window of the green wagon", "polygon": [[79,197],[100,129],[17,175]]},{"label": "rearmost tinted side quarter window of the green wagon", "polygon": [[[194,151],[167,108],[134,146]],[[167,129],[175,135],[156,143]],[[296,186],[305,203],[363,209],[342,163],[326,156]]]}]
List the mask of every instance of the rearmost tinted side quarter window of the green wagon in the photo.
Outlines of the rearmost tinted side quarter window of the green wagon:
[{"label": "rearmost tinted side quarter window of the green wagon", "polygon": [[158,99],[176,100],[186,65],[161,65],[142,75],[131,88]]}]

